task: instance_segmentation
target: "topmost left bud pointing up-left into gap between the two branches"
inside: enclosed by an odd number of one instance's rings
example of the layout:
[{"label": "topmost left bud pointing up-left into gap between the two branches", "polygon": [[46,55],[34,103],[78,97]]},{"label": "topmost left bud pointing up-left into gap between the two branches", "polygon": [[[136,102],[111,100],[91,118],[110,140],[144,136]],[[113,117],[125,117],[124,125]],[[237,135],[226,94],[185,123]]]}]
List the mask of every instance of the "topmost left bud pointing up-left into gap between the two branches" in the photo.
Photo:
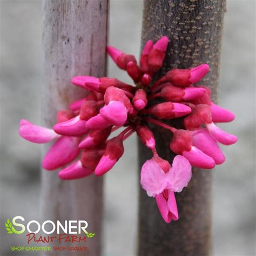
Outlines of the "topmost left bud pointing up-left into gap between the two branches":
[{"label": "topmost left bud pointing up-left into gap between the two branches", "polygon": [[109,53],[110,57],[120,69],[126,70],[128,62],[137,63],[136,58],[133,55],[128,55],[122,51],[119,51],[113,46],[107,46],[107,53]]}]

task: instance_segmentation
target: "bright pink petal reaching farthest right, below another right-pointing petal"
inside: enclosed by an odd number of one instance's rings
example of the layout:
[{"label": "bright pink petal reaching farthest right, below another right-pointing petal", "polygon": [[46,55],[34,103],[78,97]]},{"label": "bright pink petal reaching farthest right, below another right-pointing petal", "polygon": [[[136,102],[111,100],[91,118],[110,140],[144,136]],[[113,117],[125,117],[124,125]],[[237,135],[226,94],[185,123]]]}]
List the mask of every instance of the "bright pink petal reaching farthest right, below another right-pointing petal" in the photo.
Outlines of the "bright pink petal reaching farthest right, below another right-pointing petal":
[{"label": "bright pink petal reaching farthest right, below another right-pointing petal", "polygon": [[206,127],[213,139],[217,140],[217,142],[221,144],[231,145],[237,142],[237,136],[224,132],[214,123],[206,124]]}]

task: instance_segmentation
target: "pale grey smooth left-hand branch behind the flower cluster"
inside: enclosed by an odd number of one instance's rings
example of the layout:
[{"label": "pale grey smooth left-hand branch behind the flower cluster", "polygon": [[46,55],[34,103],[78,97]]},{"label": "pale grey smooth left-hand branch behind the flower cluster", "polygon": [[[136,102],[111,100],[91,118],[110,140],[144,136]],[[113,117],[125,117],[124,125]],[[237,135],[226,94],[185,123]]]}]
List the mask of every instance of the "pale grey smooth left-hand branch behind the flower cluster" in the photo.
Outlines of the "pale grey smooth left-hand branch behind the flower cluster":
[{"label": "pale grey smooth left-hand branch behind the flower cluster", "polygon": [[[68,109],[72,100],[86,95],[85,90],[71,85],[73,76],[105,75],[107,12],[108,1],[105,0],[44,0],[42,112],[46,126],[55,123],[58,110]],[[45,147],[44,152],[46,150]],[[57,172],[42,171],[43,219],[86,220],[88,230],[96,233],[95,238],[87,239],[86,255],[100,255],[102,188],[102,178],[95,176],[62,181]],[[73,253],[56,252],[56,255],[79,254]]]}]

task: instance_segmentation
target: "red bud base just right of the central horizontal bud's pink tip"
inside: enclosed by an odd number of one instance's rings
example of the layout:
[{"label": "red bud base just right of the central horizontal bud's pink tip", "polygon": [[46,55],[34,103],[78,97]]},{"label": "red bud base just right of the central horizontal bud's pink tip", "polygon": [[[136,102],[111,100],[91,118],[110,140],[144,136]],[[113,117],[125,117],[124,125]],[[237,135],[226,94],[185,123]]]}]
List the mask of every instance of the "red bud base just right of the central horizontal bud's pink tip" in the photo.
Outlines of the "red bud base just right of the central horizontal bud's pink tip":
[{"label": "red bud base just right of the central horizontal bud's pink tip", "polygon": [[211,107],[206,104],[199,104],[192,108],[189,116],[184,118],[184,125],[187,130],[198,129],[202,124],[212,122]]}]

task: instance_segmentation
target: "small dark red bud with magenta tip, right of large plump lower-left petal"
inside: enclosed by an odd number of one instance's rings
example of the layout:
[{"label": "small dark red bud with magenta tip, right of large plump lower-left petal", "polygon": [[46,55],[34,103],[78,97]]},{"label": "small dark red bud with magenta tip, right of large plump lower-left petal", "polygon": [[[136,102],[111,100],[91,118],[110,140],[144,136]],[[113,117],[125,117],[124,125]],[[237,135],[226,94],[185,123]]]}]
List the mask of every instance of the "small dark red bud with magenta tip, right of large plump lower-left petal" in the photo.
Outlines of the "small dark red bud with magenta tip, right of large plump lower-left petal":
[{"label": "small dark red bud with magenta tip, right of large plump lower-left petal", "polygon": [[100,143],[105,142],[107,137],[109,137],[111,133],[112,126],[107,127],[103,130],[92,130],[90,133],[80,142],[78,145],[79,149],[83,149],[85,147],[96,146]]}]

